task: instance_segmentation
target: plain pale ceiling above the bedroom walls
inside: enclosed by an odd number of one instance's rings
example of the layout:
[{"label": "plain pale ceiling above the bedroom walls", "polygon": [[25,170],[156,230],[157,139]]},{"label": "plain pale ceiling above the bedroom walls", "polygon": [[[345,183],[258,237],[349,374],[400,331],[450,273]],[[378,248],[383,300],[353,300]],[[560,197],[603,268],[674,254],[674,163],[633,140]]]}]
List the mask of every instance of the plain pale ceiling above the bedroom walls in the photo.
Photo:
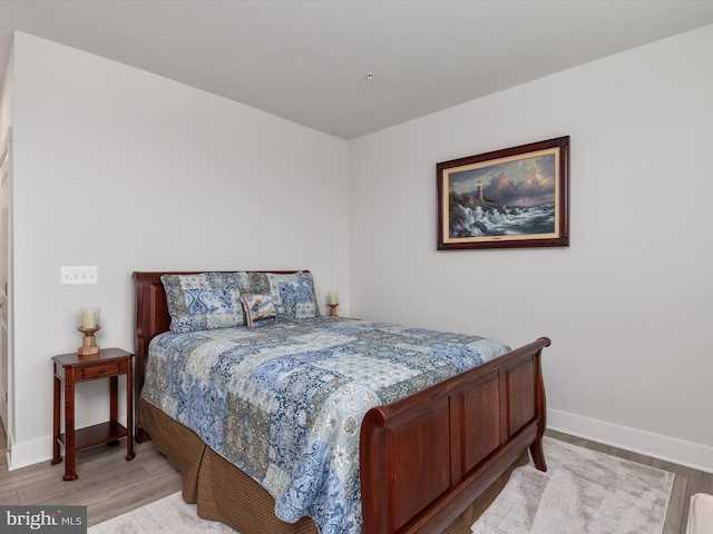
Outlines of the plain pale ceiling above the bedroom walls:
[{"label": "plain pale ceiling above the bedroom walls", "polygon": [[0,0],[0,73],[20,30],[353,139],[710,23],[713,0]]}]

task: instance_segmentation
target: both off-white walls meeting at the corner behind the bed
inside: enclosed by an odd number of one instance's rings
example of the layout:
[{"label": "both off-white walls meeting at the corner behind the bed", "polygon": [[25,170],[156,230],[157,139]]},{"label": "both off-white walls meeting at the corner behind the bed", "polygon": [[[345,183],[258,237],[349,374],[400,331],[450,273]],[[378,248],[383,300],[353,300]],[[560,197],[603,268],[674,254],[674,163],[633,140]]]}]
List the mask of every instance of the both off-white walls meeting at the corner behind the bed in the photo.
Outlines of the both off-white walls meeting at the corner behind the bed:
[{"label": "both off-white walls meeting at the corner behind the bed", "polygon": [[[348,144],[17,34],[11,466],[50,456],[79,306],[133,347],[133,270],[310,268],[342,315],[551,337],[550,426],[713,471],[712,47],[706,27]],[[572,247],[436,251],[438,161],[561,135]],[[78,423],[101,421],[106,386],[80,388]]]}]

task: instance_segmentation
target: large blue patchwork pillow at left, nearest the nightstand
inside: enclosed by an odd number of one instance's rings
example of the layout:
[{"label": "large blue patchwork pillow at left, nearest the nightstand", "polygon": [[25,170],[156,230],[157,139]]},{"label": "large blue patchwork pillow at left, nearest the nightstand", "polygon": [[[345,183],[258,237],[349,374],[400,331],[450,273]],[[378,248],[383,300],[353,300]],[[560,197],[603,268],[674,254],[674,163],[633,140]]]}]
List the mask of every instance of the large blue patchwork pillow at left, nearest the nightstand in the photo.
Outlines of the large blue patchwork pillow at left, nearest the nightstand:
[{"label": "large blue patchwork pillow at left, nearest the nightstand", "polygon": [[241,294],[250,293],[247,273],[164,275],[170,329],[186,333],[245,324]]}]

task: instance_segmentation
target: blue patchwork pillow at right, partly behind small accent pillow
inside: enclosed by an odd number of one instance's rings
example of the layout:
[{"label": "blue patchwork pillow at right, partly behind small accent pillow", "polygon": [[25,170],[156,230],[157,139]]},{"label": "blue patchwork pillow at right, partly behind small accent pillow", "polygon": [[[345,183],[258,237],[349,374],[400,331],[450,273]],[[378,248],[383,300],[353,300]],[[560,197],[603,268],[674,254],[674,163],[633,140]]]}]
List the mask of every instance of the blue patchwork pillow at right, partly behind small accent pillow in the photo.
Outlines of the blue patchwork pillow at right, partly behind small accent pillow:
[{"label": "blue patchwork pillow at right, partly behind small accent pillow", "polygon": [[306,319],[320,315],[311,273],[267,273],[267,283],[279,320]]}]

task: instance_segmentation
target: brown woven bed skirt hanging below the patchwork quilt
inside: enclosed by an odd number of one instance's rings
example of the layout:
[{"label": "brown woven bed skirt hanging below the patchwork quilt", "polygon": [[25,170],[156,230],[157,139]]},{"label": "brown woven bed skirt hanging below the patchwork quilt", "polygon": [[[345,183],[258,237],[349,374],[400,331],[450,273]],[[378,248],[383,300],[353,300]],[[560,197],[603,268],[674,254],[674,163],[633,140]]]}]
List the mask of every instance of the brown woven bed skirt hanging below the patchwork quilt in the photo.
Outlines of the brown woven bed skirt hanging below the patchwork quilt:
[{"label": "brown woven bed skirt hanging below the patchwork quilt", "polygon": [[[275,502],[253,478],[223,458],[189,428],[139,400],[143,427],[156,451],[183,475],[183,498],[197,504],[198,515],[229,525],[241,534],[319,534],[314,522],[303,517],[285,523],[274,514]],[[445,531],[470,534],[470,526],[502,491],[514,468],[527,464],[527,452],[500,475]]]}]

